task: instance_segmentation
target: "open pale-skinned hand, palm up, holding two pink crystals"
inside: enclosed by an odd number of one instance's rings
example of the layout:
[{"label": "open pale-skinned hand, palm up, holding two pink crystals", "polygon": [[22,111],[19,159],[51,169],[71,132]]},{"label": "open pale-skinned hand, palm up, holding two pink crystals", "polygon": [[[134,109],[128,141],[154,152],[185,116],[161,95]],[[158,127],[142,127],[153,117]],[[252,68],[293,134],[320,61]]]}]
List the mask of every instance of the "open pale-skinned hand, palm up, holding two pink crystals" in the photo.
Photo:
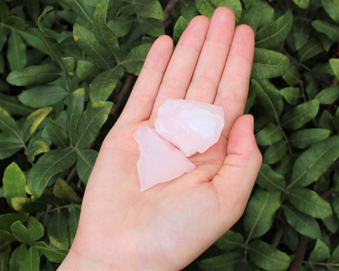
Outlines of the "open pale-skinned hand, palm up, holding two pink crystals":
[{"label": "open pale-skinned hand, palm up, holding two pink crystals", "polygon": [[[121,116],[106,136],[85,190],[78,231],[62,270],[180,270],[242,215],[262,157],[243,115],[254,34],[231,9],[195,17],[172,55],[153,44]],[[222,106],[219,141],[189,159],[195,170],[140,192],[133,133],[154,128],[168,98]]]}]

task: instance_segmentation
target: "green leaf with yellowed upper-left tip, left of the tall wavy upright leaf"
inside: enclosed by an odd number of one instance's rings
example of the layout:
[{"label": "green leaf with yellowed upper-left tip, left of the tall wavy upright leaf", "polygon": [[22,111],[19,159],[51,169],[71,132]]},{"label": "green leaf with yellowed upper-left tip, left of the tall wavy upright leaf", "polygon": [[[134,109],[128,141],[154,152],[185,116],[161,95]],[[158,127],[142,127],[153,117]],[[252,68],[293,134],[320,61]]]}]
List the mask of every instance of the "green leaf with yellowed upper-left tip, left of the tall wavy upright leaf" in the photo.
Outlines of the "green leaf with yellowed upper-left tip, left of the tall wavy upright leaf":
[{"label": "green leaf with yellowed upper-left tip, left of the tall wavy upright leaf", "polygon": [[75,23],[73,36],[80,49],[93,58],[99,67],[104,69],[112,67],[114,63],[113,56],[96,40],[93,31],[79,23]]}]

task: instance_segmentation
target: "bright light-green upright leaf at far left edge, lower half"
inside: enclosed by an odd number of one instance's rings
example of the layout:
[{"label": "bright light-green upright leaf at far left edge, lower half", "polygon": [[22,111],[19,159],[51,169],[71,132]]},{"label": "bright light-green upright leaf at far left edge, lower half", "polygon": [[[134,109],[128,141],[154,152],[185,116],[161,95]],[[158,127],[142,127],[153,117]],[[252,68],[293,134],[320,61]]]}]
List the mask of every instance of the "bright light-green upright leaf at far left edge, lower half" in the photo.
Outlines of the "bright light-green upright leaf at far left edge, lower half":
[{"label": "bright light-green upright leaf at far left edge, lower half", "polygon": [[13,197],[27,197],[25,191],[26,178],[19,166],[12,162],[6,167],[3,173],[3,191],[6,196],[7,203],[12,206]]}]

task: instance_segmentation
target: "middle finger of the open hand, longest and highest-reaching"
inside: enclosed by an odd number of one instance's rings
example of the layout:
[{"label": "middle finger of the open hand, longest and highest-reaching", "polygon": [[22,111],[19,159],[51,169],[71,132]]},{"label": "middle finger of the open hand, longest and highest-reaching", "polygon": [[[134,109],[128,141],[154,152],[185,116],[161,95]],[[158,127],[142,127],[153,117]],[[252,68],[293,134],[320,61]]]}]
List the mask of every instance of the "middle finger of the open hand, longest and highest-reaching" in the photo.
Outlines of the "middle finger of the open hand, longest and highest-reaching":
[{"label": "middle finger of the open hand, longest and highest-reaching", "polygon": [[219,7],[213,13],[204,46],[185,99],[213,103],[233,38],[235,15]]}]

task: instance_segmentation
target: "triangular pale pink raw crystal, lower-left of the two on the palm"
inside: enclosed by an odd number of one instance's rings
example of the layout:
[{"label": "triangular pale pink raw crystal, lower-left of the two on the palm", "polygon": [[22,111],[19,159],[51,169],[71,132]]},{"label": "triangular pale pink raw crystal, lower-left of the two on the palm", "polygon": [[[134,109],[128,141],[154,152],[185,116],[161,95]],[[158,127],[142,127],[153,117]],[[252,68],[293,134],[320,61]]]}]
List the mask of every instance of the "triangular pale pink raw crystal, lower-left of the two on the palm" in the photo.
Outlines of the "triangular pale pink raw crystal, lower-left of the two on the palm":
[{"label": "triangular pale pink raw crystal, lower-left of the two on the palm", "polygon": [[154,129],[140,127],[133,137],[140,151],[137,163],[140,191],[173,180],[195,168],[190,160]]}]

